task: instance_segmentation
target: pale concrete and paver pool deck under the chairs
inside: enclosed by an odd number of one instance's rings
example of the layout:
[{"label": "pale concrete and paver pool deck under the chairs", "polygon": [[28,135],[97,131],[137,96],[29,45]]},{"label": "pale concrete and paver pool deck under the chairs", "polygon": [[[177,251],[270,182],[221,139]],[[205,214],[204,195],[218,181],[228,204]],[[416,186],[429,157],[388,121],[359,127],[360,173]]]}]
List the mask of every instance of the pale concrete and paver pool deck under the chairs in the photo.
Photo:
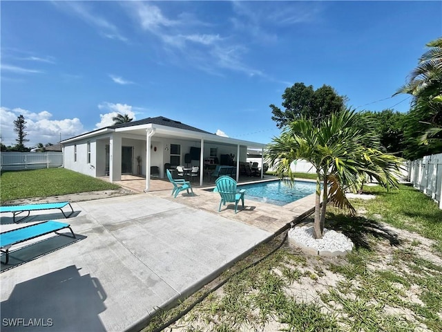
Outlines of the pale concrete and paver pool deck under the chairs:
[{"label": "pale concrete and paver pool deck under the chairs", "polygon": [[77,239],[50,234],[12,248],[1,265],[1,331],[140,331],[314,208],[311,195],[282,207],[246,199],[237,214],[233,204],[218,212],[219,194],[195,186],[173,199],[170,183],[152,182],[145,194],[73,202],[68,219],[48,210],[15,224],[2,215],[2,232],[55,219]]}]

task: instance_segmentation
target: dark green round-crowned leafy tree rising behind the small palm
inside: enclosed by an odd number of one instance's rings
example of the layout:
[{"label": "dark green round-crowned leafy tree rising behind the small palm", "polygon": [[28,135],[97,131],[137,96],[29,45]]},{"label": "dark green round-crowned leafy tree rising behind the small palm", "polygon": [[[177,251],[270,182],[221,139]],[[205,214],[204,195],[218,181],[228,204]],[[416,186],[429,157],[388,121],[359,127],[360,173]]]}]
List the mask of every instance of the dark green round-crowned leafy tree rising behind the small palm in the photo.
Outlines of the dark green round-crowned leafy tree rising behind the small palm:
[{"label": "dark green round-crowned leafy tree rising behind the small palm", "polygon": [[316,91],[313,86],[305,86],[304,83],[295,83],[285,89],[282,95],[281,111],[274,104],[270,105],[273,116],[271,120],[276,121],[276,127],[282,128],[293,120],[298,120],[302,116],[311,118],[315,123],[331,113],[343,109],[345,96],[338,95],[332,86],[323,85]]}]

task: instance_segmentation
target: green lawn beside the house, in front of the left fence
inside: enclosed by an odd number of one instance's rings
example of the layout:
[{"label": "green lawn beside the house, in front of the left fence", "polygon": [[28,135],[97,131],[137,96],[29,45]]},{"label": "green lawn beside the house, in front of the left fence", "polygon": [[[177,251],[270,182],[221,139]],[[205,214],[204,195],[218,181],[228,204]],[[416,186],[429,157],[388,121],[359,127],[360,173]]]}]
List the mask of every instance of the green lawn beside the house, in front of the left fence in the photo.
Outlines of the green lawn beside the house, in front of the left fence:
[{"label": "green lawn beside the house, in front of the left fence", "polygon": [[113,183],[64,168],[1,172],[0,181],[1,203],[15,199],[119,188]]}]

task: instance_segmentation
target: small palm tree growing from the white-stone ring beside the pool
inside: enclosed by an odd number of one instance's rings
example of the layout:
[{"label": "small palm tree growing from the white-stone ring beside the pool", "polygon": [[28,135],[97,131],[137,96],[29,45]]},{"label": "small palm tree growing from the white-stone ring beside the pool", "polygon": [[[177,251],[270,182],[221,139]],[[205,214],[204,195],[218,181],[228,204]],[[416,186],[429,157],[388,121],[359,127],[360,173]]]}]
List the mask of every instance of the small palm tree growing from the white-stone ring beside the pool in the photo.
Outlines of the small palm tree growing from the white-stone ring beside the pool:
[{"label": "small palm tree growing from the white-stone ring beside the pool", "polygon": [[[345,192],[354,190],[358,176],[367,174],[385,187],[397,187],[401,158],[383,154],[371,131],[356,125],[360,117],[343,110],[324,119],[318,126],[310,119],[291,122],[278,138],[273,138],[266,158],[276,175],[289,185],[294,183],[290,164],[304,159],[316,167],[314,237],[323,237],[327,201],[354,213]],[[320,206],[321,185],[323,204]]]}]

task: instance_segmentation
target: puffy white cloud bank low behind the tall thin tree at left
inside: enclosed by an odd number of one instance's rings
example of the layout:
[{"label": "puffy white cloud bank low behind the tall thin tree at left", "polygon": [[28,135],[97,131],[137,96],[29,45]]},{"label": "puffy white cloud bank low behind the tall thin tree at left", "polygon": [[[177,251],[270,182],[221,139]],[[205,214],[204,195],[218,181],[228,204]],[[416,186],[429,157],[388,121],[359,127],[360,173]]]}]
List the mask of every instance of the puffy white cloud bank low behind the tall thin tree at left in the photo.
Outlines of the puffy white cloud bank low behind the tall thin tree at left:
[{"label": "puffy white cloud bank low behind the tall thin tree at left", "polygon": [[25,143],[26,147],[33,147],[37,143],[46,144],[50,142],[55,144],[59,142],[60,134],[61,140],[64,140],[84,132],[83,124],[81,124],[79,118],[51,120],[52,113],[48,111],[34,113],[21,108],[0,107],[1,142],[4,145],[17,144],[14,121],[20,115],[26,121],[25,132],[28,134],[26,139],[29,140]]}]

